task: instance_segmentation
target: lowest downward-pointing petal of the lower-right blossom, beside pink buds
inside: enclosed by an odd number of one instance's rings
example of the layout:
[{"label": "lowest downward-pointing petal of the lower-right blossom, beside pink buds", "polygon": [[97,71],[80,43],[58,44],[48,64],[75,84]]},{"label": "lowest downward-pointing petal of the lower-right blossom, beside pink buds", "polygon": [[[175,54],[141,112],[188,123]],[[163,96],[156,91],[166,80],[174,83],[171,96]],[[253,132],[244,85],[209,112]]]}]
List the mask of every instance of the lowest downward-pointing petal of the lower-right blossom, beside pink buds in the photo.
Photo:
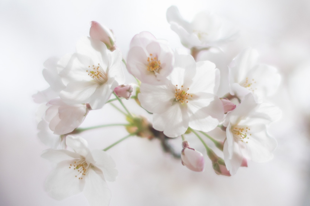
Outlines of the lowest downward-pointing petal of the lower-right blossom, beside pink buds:
[{"label": "lowest downward-pointing petal of the lower-right blossom, beside pink buds", "polygon": [[229,170],[231,175],[234,175],[237,173],[238,168],[241,166],[243,157],[241,155],[241,152],[239,151],[238,147],[234,147],[236,150],[233,151],[232,156],[230,157],[230,154],[228,152],[228,144],[227,141],[224,143],[224,161],[227,170]]}]

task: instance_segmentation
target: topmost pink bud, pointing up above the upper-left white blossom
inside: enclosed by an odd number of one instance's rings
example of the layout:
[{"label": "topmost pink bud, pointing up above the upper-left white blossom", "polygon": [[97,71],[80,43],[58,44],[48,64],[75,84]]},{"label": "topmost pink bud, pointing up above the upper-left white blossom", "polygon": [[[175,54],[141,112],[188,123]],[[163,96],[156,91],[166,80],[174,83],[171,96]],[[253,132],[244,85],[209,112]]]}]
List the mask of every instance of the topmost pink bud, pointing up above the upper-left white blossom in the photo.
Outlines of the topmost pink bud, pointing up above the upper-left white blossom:
[{"label": "topmost pink bud, pointing up above the upper-left white blossom", "polygon": [[113,32],[96,21],[91,22],[89,36],[93,39],[102,41],[107,45],[108,49],[112,48],[115,44],[115,36]]}]

